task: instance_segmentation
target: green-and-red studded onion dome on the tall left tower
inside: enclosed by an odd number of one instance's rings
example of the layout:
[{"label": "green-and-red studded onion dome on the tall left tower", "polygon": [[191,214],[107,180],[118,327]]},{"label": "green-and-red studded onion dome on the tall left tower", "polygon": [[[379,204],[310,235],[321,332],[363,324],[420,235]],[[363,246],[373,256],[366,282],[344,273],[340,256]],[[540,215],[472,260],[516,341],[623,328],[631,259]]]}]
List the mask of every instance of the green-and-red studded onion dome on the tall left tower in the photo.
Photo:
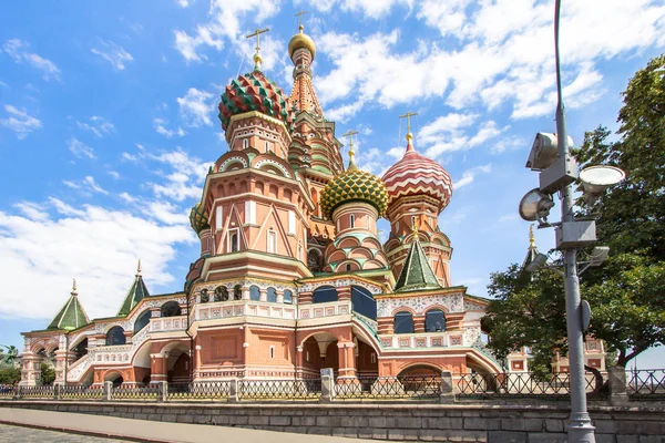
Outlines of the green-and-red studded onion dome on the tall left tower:
[{"label": "green-and-red studded onion dome on the tall left tower", "polygon": [[257,111],[278,119],[288,127],[291,122],[288,112],[288,95],[282,87],[270,81],[263,72],[255,69],[233,80],[222,94],[219,102],[219,120],[226,131],[231,117],[245,112]]}]

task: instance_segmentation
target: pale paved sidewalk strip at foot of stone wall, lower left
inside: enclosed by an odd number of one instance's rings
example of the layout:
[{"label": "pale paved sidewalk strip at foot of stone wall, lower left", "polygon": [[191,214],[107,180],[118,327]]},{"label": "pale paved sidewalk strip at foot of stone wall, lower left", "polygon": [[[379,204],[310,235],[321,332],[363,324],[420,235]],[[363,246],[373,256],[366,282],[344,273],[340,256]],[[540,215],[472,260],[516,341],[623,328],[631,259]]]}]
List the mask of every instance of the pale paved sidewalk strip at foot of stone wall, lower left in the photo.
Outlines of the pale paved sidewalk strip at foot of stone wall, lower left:
[{"label": "pale paved sidewalk strip at foot of stone wall, lower left", "polygon": [[69,430],[83,434],[111,436],[119,440],[129,439],[133,441],[168,443],[218,443],[219,441],[260,441],[260,443],[377,443],[376,440],[257,431],[207,424],[154,422],[106,415],[13,408],[0,408],[0,423],[24,424],[51,430]]}]

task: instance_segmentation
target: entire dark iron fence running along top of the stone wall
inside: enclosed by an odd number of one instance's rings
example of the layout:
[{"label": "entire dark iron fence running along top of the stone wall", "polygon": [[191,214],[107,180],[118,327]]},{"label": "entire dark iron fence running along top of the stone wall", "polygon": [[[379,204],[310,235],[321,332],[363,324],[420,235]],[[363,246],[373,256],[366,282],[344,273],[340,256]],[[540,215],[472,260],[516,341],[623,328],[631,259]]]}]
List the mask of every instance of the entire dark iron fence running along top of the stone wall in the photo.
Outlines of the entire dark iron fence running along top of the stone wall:
[{"label": "entire dark iron fence running along top of the stone wall", "polygon": [[[604,381],[608,380],[603,373]],[[560,399],[570,395],[570,374],[534,377],[530,373],[442,373],[428,377],[351,377],[303,380],[218,380],[184,383],[152,383],[68,387],[0,385],[0,399],[21,400],[130,400],[130,401],[449,401],[459,399]],[[610,385],[610,390],[612,387]],[[592,373],[585,374],[590,398],[605,399],[608,389]],[[617,390],[618,392],[618,390]],[[634,400],[665,398],[665,370],[626,373],[625,392]]]}]

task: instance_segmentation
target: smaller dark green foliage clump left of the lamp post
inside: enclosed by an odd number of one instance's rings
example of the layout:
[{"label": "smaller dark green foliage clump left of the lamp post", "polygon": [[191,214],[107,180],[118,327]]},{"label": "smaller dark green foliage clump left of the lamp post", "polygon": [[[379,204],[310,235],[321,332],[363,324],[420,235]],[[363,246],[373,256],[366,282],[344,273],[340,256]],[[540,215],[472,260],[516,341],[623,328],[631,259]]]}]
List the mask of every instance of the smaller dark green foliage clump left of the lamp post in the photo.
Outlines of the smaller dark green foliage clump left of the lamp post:
[{"label": "smaller dark green foliage clump left of the lamp post", "polygon": [[[552,352],[565,348],[565,299],[563,279],[550,270],[529,274],[518,265],[505,272],[493,272],[488,286],[494,298],[483,320],[497,357],[530,347],[531,372],[551,372]],[[565,349],[564,349],[565,350]]]}]

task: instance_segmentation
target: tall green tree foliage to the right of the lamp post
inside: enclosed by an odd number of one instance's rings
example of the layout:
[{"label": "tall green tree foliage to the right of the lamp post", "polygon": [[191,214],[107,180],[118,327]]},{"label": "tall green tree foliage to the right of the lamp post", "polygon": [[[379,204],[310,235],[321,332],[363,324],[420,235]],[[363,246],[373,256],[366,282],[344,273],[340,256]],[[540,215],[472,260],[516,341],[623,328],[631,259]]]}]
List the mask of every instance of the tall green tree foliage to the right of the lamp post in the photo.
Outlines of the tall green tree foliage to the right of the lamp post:
[{"label": "tall green tree foliage to the right of the lamp post", "polygon": [[665,343],[665,54],[637,71],[623,93],[620,140],[598,126],[574,154],[582,167],[618,166],[626,179],[594,205],[580,199],[583,215],[597,215],[596,231],[612,255],[583,276],[592,306],[590,333],[627,362]]}]

